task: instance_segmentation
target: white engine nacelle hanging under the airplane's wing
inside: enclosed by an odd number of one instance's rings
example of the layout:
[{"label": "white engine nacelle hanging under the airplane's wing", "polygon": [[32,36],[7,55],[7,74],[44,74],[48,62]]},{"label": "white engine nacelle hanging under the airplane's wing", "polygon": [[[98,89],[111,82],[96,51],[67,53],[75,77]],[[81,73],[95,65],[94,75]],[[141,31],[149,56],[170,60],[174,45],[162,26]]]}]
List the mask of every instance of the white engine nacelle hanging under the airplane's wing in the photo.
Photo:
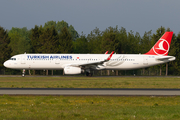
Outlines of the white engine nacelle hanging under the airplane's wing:
[{"label": "white engine nacelle hanging under the airplane's wing", "polygon": [[81,68],[79,67],[65,67],[64,68],[65,74],[81,74]]}]

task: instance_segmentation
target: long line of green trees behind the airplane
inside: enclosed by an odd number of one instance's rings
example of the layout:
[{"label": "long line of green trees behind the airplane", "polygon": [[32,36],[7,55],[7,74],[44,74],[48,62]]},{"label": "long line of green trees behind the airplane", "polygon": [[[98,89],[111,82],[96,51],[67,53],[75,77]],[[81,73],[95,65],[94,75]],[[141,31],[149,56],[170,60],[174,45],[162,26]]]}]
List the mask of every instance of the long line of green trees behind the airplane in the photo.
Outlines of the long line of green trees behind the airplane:
[{"label": "long line of green trees behind the airplane", "polygon": [[[105,53],[144,54],[170,28],[160,27],[156,33],[147,31],[143,36],[138,32],[127,32],[125,28],[108,27],[104,31],[95,28],[88,35],[78,34],[72,25],[65,21],[48,21],[44,26],[35,25],[28,30],[14,28],[5,30],[0,27],[0,70],[1,74],[17,74],[16,70],[6,69],[3,62],[11,56],[23,53]],[[180,33],[173,34],[169,55],[176,60],[168,63],[169,75],[180,75]],[[166,65],[157,65],[146,69],[119,71],[121,75],[159,75]],[[143,71],[143,72],[142,72]],[[160,71],[160,72],[158,72]],[[105,73],[99,73],[105,74]],[[113,74],[111,72],[111,74]]]}]

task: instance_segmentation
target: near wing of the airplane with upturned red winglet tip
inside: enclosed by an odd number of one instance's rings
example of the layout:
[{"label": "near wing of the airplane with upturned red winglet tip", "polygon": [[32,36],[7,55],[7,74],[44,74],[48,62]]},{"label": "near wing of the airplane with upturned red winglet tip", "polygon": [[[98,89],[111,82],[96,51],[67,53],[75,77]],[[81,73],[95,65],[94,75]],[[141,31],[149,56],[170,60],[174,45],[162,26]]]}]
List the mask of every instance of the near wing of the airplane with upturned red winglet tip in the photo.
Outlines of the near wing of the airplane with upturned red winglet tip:
[{"label": "near wing of the airplane with upturned red winglet tip", "polygon": [[80,66],[102,65],[104,62],[109,61],[113,54],[114,54],[114,51],[109,55],[109,57],[107,59],[102,60],[102,61],[89,62],[89,63],[78,63],[78,64],[69,64],[68,66],[80,67]]}]

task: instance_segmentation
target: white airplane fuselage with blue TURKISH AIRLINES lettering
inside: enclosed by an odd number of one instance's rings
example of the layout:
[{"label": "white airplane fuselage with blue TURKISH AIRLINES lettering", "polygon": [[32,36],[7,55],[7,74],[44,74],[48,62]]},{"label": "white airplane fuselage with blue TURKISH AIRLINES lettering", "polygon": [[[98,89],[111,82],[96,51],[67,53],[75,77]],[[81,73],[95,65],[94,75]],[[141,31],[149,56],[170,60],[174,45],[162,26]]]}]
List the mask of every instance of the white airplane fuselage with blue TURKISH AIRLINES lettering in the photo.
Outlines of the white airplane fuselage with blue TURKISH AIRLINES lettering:
[{"label": "white airplane fuselage with blue TURKISH AIRLINES lettering", "polygon": [[[107,59],[108,54],[19,54],[11,57],[4,66],[12,69],[64,69],[68,65],[94,63]],[[168,59],[161,59],[169,57]],[[102,65],[86,65],[83,69],[130,70],[145,68],[175,60],[173,56],[143,54],[114,54]],[[82,67],[82,66],[81,66]]]}]

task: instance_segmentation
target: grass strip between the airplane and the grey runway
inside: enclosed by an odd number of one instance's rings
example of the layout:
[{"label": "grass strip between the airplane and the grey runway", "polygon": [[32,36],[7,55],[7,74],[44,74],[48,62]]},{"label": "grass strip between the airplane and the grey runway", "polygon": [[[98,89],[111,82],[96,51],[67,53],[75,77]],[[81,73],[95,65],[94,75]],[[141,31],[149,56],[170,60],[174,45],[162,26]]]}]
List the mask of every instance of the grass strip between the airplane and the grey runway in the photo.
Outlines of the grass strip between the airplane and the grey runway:
[{"label": "grass strip between the airplane and the grey runway", "polygon": [[8,88],[180,88],[178,77],[0,77]]}]

